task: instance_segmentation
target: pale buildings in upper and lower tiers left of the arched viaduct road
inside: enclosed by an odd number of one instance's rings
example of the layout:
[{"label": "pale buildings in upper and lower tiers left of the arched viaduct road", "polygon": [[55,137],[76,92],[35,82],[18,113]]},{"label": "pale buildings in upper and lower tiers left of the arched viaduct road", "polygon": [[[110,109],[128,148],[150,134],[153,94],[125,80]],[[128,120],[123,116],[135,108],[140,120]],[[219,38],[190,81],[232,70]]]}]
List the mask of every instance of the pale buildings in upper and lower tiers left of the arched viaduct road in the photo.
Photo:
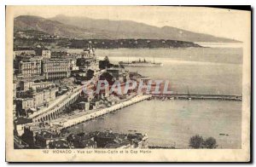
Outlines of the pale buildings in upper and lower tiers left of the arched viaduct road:
[{"label": "pale buildings in upper and lower tiers left of the arched viaduct road", "polygon": [[[77,66],[78,59],[86,63]],[[97,70],[98,60],[91,47],[66,57],[52,56],[41,46],[14,50],[14,110],[15,116],[26,115],[47,107],[55,101],[58,87],[49,80],[70,78],[74,73]]]}]

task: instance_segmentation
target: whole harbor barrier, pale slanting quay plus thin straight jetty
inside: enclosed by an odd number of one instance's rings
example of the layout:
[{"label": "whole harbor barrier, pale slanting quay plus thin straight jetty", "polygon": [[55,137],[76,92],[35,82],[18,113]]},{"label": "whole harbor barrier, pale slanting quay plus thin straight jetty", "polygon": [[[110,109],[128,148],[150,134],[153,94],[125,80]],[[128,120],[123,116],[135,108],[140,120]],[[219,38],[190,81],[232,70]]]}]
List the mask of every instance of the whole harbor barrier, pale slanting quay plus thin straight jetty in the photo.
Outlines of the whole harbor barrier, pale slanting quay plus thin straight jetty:
[{"label": "whole harbor barrier, pale slanting quay plus thin straight jetty", "polygon": [[131,106],[137,102],[144,100],[160,99],[165,100],[218,100],[218,101],[241,101],[239,95],[188,95],[188,94],[169,94],[169,95],[136,95],[127,101],[122,101],[119,104],[115,104],[111,107],[92,110],[90,112],[79,112],[67,118],[57,118],[49,123],[55,130],[61,131],[67,129],[76,124],[81,124],[85,121],[89,121],[110,112],[115,112],[123,107]]}]

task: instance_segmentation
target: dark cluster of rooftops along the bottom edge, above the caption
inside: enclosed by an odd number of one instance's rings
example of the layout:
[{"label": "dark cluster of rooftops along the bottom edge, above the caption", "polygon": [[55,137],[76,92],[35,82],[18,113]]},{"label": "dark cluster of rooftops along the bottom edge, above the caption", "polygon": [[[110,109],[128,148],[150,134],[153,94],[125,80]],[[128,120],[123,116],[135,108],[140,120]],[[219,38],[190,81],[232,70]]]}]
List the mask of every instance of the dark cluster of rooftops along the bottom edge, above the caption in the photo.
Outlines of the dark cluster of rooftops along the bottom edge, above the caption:
[{"label": "dark cluster of rooftops along the bottom edge, above the caption", "polygon": [[106,130],[67,135],[49,130],[32,131],[31,127],[25,129],[20,138],[28,148],[148,148],[148,136],[141,133],[120,134]]}]

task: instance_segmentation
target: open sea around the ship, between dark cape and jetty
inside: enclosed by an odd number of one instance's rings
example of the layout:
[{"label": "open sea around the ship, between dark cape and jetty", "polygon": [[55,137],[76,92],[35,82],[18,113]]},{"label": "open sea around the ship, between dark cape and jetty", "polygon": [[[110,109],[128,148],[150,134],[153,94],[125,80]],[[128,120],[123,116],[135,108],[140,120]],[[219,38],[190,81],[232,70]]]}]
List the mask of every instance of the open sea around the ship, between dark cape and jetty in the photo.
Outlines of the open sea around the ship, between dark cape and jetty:
[{"label": "open sea around the ship, between dark cape and jetty", "polygon": [[118,63],[144,58],[163,67],[127,67],[153,79],[167,79],[180,93],[241,95],[242,49],[111,49],[97,50]]}]

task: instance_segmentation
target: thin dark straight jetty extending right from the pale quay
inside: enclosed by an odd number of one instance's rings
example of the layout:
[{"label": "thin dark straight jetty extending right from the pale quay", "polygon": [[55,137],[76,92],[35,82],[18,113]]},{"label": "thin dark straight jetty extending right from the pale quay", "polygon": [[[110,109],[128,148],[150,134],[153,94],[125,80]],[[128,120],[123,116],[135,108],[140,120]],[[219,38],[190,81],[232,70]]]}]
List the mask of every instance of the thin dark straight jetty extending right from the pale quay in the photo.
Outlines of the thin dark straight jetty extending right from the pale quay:
[{"label": "thin dark straight jetty extending right from the pale quay", "polygon": [[215,94],[152,94],[155,98],[185,99],[185,100],[220,100],[241,101],[241,95],[215,95]]}]

